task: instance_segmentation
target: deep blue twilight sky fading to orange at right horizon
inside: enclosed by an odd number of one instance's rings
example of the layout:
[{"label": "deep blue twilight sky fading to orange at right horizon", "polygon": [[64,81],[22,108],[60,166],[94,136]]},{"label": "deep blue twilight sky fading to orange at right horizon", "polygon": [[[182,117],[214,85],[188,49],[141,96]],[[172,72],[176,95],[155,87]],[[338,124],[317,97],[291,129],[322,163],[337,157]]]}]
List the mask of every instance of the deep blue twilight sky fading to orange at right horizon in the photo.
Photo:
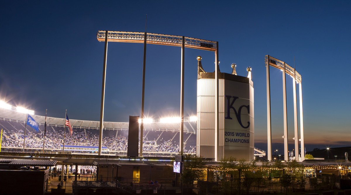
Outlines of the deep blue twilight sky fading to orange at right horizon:
[{"label": "deep blue twilight sky fading to orange at right horizon", "polygon": [[[219,42],[220,70],[252,67],[255,146],[266,149],[264,56],[302,75],[307,151],[351,145],[351,1],[4,1],[0,8],[0,99],[50,117],[99,120],[104,42],[98,30],[188,36]],[[145,112],[180,110],[180,47],[147,45]],[[197,60],[214,71],[214,52],[185,49],[185,116],[196,114]],[[143,44],[108,44],[105,121],[140,115]],[[287,77],[289,143],[292,79]],[[298,90],[299,88],[297,88]],[[271,69],[273,149],[282,150],[282,72]],[[291,147],[292,148],[292,147]]]}]

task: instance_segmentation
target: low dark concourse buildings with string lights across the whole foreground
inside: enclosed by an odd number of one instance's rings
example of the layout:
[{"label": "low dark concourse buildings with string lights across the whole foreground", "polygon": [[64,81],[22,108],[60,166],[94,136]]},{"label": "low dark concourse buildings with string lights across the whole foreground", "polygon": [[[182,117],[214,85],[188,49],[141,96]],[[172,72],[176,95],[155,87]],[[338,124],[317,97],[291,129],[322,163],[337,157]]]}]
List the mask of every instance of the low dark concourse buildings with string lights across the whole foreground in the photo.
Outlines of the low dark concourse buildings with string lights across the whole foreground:
[{"label": "low dark concourse buildings with string lights across the whole foreground", "polygon": [[[351,189],[351,163],[340,160],[229,163],[203,159],[204,166],[185,166],[181,178],[173,172],[174,158],[30,153],[0,156],[0,182],[5,186],[1,194],[178,194],[181,189],[183,194],[266,194]],[[19,170],[26,169],[24,166],[27,170]],[[196,170],[200,170],[200,177],[188,174]]]}]

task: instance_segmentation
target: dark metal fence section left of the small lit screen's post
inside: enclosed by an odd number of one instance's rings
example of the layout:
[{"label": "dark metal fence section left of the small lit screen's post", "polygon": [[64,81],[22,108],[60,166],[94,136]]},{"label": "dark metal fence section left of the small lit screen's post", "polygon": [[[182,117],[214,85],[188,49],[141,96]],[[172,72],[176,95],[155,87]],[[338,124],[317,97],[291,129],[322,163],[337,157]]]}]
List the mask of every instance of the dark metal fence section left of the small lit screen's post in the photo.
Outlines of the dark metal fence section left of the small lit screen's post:
[{"label": "dark metal fence section left of the small lit screen's post", "polygon": [[[116,181],[116,179],[118,179]],[[105,180],[105,181],[104,181]],[[180,180],[179,180],[180,181]],[[74,194],[174,194],[180,193],[180,183],[168,178],[121,178],[94,175],[46,176],[45,191]]]}]

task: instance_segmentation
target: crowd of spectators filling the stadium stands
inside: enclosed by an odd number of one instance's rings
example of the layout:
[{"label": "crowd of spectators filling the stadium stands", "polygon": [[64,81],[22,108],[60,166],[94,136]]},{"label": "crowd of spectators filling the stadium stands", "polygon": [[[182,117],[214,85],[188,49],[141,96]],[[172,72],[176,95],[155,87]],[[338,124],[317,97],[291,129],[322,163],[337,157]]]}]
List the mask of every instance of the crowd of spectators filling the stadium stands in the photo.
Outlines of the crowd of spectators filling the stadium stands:
[{"label": "crowd of spectators filling the stadium stands", "polygon": [[[3,147],[18,147],[23,148],[24,144],[24,126],[22,123],[14,121],[4,121],[0,120],[0,128],[4,127],[2,146]],[[39,125],[39,132],[33,130],[31,127],[27,126],[26,130],[26,148],[42,149],[43,138],[44,138],[44,126]],[[126,131],[126,132],[125,132]],[[104,131],[105,132],[105,131]],[[152,132],[152,131],[151,131]],[[158,139],[160,132],[151,133],[150,139],[144,137],[145,140],[154,140],[152,144],[143,145],[143,151],[145,152],[155,152],[155,153],[178,153],[179,152],[179,133],[175,136],[177,132],[168,131],[164,133],[162,138]],[[127,130],[119,130],[119,132],[112,131],[102,137],[102,146],[106,146],[110,151],[127,151],[128,147],[128,136]],[[65,138],[64,138],[65,135]],[[126,135],[126,136],[125,136]],[[146,133],[144,134],[144,136]],[[157,135],[157,136],[156,136]],[[196,153],[196,139],[195,134],[186,133],[187,138],[190,141],[184,146],[185,153]],[[177,137],[177,139],[174,139]],[[98,130],[88,130],[73,128],[73,133],[69,133],[66,128],[66,133],[63,127],[46,126],[45,133],[45,149],[60,149],[60,145],[63,144],[65,139],[65,145],[77,145],[77,146],[99,146],[99,131]],[[167,141],[166,141],[167,140]],[[176,140],[176,141],[175,141]],[[185,140],[185,139],[184,139]],[[140,139],[139,139],[140,141]],[[74,151],[72,153],[86,153],[84,151]]]}]

